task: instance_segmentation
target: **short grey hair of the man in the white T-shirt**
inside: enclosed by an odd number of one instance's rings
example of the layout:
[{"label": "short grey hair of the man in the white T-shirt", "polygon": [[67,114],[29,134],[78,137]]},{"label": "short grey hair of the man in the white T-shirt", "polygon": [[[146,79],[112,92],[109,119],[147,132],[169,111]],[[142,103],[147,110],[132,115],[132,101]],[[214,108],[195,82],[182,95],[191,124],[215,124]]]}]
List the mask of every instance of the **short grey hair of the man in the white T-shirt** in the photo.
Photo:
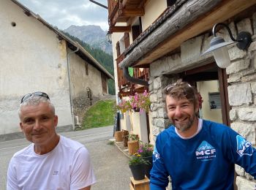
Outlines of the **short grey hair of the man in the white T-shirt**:
[{"label": "short grey hair of the man in the white T-shirt", "polygon": [[33,96],[31,95],[28,99],[26,99],[24,102],[20,104],[18,115],[20,117],[21,115],[21,109],[22,107],[25,107],[27,105],[38,105],[40,103],[47,103],[50,106],[50,110],[53,112],[53,115],[55,115],[55,107],[52,102],[50,102],[50,99],[45,98],[44,96]]}]

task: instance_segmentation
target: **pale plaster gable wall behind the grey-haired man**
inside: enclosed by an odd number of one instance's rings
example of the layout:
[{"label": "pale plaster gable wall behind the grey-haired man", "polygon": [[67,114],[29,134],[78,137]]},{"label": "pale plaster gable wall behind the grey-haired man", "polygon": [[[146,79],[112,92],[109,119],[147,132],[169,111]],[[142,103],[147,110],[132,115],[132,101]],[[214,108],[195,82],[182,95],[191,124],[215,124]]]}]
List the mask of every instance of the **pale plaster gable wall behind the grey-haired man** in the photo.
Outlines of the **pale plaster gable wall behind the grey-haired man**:
[{"label": "pale plaster gable wall behind the grey-haired man", "polygon": [[20,99],[34,91],[50,96],[58,126],[72,125],[66,42],[10,0],[1,0],[0,20],[0,134],[20,132]]}]

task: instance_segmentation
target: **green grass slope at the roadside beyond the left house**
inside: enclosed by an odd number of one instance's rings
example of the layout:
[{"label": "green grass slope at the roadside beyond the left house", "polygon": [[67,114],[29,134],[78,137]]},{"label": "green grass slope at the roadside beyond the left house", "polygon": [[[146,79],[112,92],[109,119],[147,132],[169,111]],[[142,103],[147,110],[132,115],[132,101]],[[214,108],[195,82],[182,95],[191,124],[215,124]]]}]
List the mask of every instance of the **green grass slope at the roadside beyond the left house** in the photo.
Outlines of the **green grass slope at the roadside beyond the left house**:
[{"label": "green grass slope at the roadside beyond the left house", "polygon": [[83,118],[80,130],[91,129],[100,126],[110,126],[114,124],[114,100],[100,100],[94,104]]}]

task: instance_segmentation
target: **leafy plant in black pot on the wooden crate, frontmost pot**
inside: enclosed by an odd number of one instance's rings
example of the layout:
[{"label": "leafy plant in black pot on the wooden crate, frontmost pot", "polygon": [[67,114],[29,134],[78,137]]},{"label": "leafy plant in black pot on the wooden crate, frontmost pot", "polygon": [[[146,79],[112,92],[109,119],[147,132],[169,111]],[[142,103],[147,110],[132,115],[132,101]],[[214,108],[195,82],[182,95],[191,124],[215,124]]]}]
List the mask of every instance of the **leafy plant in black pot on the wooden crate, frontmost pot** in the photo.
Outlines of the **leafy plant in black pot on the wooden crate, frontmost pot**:
[{"label": "leafy plant in black pot on the wooden crate, frontmost pot", "polygon": [[144,160],[139,153],[135,153],[131,156],[129,159],[129,168],[135,180],[143,180],[145,178],[146,164],[148,164],[148,161]]}]

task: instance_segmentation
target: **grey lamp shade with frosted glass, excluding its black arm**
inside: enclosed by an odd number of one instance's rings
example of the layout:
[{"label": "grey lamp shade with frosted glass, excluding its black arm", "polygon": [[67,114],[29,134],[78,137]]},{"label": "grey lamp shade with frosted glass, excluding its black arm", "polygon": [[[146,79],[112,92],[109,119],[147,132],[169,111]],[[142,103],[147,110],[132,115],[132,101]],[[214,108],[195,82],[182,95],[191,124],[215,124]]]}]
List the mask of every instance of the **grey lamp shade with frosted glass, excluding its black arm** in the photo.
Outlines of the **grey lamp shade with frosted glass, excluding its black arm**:
[{"label": "grey lamp shade with frosted glass, excluding its black arm", "polygon": [[226,46],[233,43],[236,42],[225,42],[222,37],[214,37],[213,39],[211,39],[210,47],[208,48],[208,50],[206,50],[205,53],[202,54],[202,56],[207,53],[214,53],[214,59],[217,65],[220,68],[224,69],[230,65],[230,56],[228,54]]}]

